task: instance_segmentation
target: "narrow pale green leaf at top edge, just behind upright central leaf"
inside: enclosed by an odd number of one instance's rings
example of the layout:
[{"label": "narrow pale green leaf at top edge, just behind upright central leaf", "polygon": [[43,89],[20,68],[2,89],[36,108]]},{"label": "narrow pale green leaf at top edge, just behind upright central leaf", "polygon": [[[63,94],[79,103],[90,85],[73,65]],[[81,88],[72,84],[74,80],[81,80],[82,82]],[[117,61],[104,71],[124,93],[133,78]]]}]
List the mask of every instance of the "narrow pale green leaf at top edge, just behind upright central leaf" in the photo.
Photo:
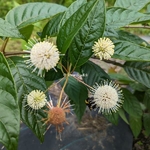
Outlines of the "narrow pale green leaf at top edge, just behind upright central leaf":
[{"label": "narrow pale green leaf at top edge, just behind upright central leaf", "polygon": [[68,20],[85,3],[87,3],[87,0],[76,0],[75,2],[73,2],[65,11],[60,23],[60,28],[64,25],[66,20]]}]

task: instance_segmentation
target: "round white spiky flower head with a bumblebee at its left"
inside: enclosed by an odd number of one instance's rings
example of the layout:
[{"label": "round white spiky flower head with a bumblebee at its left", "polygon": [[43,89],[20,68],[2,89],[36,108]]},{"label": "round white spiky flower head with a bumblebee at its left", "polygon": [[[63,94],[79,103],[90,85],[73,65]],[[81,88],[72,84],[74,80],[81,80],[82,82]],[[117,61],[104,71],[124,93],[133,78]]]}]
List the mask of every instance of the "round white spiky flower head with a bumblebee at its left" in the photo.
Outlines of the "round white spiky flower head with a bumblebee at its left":
[{"label": "round white spiky flower head with a bumblebee at its left", "polygon": [[104,81],[96,84],[93,90],[93,105],[99,108],[101,113],[116,112],[123,103],[123,94],[118,84]]}]

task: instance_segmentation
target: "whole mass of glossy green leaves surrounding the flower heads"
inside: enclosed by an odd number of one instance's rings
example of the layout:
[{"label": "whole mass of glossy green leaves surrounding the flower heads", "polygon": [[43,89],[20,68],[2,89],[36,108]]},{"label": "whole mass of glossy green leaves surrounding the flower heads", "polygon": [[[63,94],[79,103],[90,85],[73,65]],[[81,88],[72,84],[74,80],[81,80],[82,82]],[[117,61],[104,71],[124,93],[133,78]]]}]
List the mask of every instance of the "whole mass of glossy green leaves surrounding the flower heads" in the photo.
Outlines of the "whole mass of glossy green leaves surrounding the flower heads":
[{"label": "whole mass of glossy green leaves surrounding the flower heads", "polygon": [[[68,8],[53,3],[27,3],[10,10],[5,19],[0,18],[0,37],[4,44],[0,53],[0,142],[8,150],[17,149],[20,120],[28,125],[35,135],[44,140],[41,118],[44,112],[32,114],[24,107],[24,94],[39,89],[47,89],[45,81],[55,81],[63,77],[59,68],[50,70],[45,78],[31,73],[24,59],[19,56],[6,57],[4,47],[8,38],[28,40],[35,22],[50,19],[38,35],[57,37],[56,43],[61,54],[61,64],[70,72],[87,74],[83,81],[93,86],[104,79],[114,79],[123,88],[124,103],[117,113],[106,118],[117,124],[121,117],[131,127],[137,137],[144,127],[150,134],[150,45],[140,37],[121,30],[130,24],[150,21],[149,13],[140,10],[149,0],[116,0],[111,8],[105,8],[104,0],[77,0]],[[100,66],[91,62],[92,46],[100,37],[109,37],[115,44],[114,59],[123,60],[122,68],[127,76],[107,74]],[[64,70],[65,72],[65,70]],[[62,82],[63,85],[63,82]],[[128,90],[129,89],[129,90]],[[69,77],[65,92],[75,104],[75,113],[80,120],[84,114],[88,97],[87,87],[75,78]],[[140,93],[140,96],[139,96]]]}]

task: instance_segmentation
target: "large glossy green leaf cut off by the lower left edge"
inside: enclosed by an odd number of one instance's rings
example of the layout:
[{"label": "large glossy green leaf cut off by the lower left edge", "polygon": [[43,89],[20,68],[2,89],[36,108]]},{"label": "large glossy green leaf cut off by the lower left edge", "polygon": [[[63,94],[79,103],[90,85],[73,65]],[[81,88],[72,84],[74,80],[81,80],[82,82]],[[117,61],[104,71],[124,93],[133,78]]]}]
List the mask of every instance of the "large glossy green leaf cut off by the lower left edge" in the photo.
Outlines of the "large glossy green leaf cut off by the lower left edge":
[{"label": "large glossy green leaf cut off by the lower left edge", "polygon": [[0,53],[0,142],[7,150],[17,150],[20,112],[17,92],[9,66]]}]

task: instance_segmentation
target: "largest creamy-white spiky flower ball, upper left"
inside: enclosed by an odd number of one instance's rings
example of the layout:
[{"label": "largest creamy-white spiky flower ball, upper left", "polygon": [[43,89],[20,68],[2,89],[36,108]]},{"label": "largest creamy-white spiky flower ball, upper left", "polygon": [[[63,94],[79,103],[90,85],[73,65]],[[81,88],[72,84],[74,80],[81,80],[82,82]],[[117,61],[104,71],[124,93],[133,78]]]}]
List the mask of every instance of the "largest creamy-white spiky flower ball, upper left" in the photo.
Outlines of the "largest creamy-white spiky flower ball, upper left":
[{"label": "largest creamy-white spiky flower ball, upper left", "polygon": [[29,41],[28,44],[26,51],[30,53],[30,59],[26,62],[30,64],[30,67],[35,66],[33,72],[39,69],[38,74],[41,75],[43,70],[55,69],[60,59],[56,45],[48,40],[40,42],[36,39],[33,42]]}]

